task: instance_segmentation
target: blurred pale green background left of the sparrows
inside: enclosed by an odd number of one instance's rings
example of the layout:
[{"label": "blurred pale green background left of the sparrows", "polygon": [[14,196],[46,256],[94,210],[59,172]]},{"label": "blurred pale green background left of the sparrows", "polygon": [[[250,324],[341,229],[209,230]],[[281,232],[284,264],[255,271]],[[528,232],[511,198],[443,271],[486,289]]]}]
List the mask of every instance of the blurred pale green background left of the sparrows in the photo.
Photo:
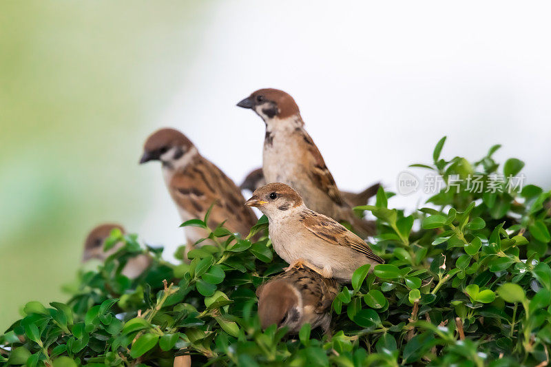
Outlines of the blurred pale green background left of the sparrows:
[{"label": "blurred pale green background left of the sparrows", "polygon": [[150,205],[140,147],[208,6],[0,3],[0,330],[25,302],[66,299],[91,227]]}]

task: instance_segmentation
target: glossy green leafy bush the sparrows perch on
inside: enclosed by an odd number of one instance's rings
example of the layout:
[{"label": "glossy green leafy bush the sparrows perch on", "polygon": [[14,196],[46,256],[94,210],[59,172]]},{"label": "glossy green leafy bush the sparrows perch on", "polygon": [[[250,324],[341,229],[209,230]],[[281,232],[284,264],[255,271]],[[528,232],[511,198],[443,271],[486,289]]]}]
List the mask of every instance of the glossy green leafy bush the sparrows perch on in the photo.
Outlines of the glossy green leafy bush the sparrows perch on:
[{"label": "glossy green leafy bush the sparrows perch on", "polygon": [[[260,329],[256,287],[287,265],[261,218],[251,231],[264,232],[259,242],[218,227],[209,235],[216,246],[190,251],[191,264],[168,264],[162,249],[143,250],[135,235],[114,231],[105,246],[125,247],[79,275],[66,304],[26,304],[26,316],[0,337],[0,365],[171,366],[175,355],[191,355],[194,365],[215,366],[545,366],[550,192],[526,185],[509,193],[508,177],[523,162],[499,169],[499,146],[477,162],[444,160],[444,140],[431,165],[413,165],[449,184],[430,208],[406,216],[388,208],[393,193],[382,189],[374,206],[357,208],[377,217],[372,248],[386,264],[362,266],[342,287],[331,337],[309,325],[298,336]],[[506,180],[496,185],[490,175],[498,172]],[[468,180],[448,189],[453,175],[472,174],[495,192],[472,192]],[[121,275],[141,253],[153,258],[149,269],[136,280]]]}]

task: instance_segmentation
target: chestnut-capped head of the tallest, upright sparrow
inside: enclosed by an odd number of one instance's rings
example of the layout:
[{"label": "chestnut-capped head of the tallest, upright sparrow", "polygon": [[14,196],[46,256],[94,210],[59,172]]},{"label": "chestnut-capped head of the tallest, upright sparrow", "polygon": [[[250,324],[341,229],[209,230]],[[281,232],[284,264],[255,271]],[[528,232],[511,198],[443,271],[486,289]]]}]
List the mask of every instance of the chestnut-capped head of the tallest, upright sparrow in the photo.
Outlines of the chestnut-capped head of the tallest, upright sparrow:
[{"label": "chestnut-capped head of the tallest, upright sparrow", "polygon": [[267,88],[257,90],[237,104],[239,107],[253,109],[264,122],[275,118],[284,119],[299,115],[298,105],[293,97],[282,90]]}]

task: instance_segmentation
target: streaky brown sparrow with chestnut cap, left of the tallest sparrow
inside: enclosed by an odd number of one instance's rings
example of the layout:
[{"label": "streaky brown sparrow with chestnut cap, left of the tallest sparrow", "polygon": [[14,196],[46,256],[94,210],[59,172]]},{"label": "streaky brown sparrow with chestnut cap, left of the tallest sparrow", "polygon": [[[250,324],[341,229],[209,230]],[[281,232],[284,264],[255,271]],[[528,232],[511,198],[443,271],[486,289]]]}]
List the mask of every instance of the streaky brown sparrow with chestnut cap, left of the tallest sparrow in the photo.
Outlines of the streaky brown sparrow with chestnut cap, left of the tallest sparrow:
[{"label": "streaky brown sparrow with chestnut cap, left of the tallest sparrow", "polygon": [[[252,209],[243,206],[245,198],[236,184],[178,130],[160,129],[147,138],[140,164],[150,160],[161,162],[167,189],[184,222],[202,220],[214,205],[207,223],[211,229],[224,223],[229,231],[247,235],[256,224],[258,219]],[[187,250],[208,235],[203,228],[187,227]],[[201,242],[206,243],[209,241]]]}]

